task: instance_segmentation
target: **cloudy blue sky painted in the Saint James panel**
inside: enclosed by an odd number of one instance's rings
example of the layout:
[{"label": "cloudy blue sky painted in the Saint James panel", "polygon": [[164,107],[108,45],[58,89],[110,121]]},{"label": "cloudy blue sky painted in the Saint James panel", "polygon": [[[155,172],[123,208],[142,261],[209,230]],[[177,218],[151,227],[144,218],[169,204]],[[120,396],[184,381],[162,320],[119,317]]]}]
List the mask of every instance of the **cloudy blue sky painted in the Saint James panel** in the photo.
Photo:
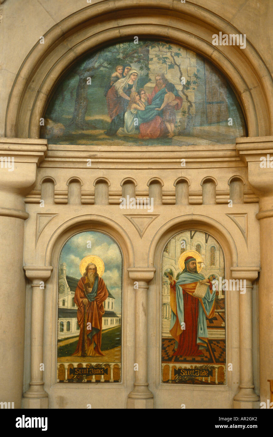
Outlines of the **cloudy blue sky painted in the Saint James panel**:
[{"label": "cloudy blue sky painted in the Saint James panel", "polygon": [[[91,249],[87,247],[91,241]],[[90,243],[89,243],[90,246]],[[103,281],[115,299],[115,312],[121,312],[122,256],[119,246],[108,235],[98,231],[80,232],[72,236],[60,254],[60,263],[66,263],[68,276],[80,279],[82,258],[96,255],[104,262]]]}]

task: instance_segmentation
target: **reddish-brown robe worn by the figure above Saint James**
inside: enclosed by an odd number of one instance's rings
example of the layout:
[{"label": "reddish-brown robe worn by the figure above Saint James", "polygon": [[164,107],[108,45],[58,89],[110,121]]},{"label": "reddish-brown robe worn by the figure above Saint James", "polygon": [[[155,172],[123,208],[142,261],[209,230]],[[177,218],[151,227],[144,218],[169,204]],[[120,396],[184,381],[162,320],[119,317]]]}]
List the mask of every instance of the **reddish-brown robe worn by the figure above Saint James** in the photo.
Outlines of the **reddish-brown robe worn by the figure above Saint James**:
[{"label": "reddish-brown robe worn by the figure above Saint James", "polygon": [[[80,333],[78,337],[78,345],[73,355],[82,357],[82,334],[84,329],[84,305],[83,299],[87,299],[84,291],[85,282],[88,282],[87,277],[81,277],[78,281],[78,285],[75,291],[74,302],[78,306],[77,319],[80,327]],[[100,350],[102,344],[102,316],[104,314],[103,302],[108,298],[108,291],[106,285],[101,277],[99,277],[98,291],[93,302],[87,301],[86,305],[86,355],[97,356],[102,355]],[[87,329],[88,323],[91,323],[92,329]],[[92,337],[92,338],[90,338]],[[94,344],[96,346],[94,347]]]}]

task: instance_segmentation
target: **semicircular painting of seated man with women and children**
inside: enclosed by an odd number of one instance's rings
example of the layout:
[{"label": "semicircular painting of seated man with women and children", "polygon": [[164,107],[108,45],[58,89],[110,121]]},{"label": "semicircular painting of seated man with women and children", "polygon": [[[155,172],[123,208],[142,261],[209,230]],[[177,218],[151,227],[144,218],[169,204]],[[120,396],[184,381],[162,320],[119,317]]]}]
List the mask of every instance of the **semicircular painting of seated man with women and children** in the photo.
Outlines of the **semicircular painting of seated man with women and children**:
[{"label": "semicircular painting of seated man with women and children", "polygon": [[49,144],[233,144],[241,107],[211,62],[179,45],[123,42],[81,59],[56,88],[41,138]]}]

